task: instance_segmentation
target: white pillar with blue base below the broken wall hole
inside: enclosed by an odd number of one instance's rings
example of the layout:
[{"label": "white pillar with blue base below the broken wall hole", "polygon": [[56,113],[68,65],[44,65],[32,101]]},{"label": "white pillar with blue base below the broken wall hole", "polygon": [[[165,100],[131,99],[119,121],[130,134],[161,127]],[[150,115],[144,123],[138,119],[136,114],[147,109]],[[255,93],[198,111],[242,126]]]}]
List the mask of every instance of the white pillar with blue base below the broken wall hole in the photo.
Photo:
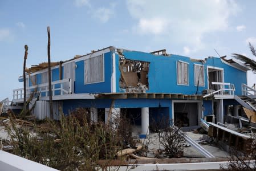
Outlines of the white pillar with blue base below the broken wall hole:
[{"label": "white pillar with blue base below the broken wall hole", "polygon": [[141,108],[141,134],[140,138],[145,139],[149,134],[149,108]]}]

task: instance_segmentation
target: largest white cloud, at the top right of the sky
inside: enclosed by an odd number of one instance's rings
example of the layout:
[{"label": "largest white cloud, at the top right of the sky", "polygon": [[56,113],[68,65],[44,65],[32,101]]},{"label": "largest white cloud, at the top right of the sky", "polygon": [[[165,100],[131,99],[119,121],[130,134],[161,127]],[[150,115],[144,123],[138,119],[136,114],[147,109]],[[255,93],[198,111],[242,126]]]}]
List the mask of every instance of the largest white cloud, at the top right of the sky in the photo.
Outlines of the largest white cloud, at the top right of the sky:
[{"label": "largest white cloud, at the top right of the sky", "polygon": [[127,8],[137,34],[186,44],[190,52],[205,46],[204,35],[227,30],[229,18],[239,11],[233,0],[127,0]]}]

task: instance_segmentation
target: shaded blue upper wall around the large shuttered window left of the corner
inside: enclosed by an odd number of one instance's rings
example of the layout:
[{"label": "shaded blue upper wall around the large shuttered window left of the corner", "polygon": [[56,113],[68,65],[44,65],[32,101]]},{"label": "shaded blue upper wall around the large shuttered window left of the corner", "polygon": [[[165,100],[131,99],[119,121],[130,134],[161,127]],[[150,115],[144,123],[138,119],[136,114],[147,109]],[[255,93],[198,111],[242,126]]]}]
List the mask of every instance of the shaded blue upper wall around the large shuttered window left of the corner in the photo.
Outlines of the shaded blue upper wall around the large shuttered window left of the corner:
[{"label": "shaded blue upper wall around the large shuttered window left of the corner", "polygon": [[75,93],[103,93],[111,92],[112,52],[104,54],[104,82],[84,84],[84,60],[76,62]]}]

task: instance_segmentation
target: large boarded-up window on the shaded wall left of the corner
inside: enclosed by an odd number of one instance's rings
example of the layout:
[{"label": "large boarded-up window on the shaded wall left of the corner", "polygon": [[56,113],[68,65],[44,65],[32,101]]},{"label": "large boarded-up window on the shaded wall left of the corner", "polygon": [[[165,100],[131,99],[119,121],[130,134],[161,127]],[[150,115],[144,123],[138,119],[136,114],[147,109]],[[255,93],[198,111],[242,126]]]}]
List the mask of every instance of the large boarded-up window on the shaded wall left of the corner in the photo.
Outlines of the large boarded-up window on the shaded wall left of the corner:
[{"label": "large boarded-up window on the shaded wall left of the corner", "polygon": [[104,56],[84,60],[84,84],[104,82]]}]

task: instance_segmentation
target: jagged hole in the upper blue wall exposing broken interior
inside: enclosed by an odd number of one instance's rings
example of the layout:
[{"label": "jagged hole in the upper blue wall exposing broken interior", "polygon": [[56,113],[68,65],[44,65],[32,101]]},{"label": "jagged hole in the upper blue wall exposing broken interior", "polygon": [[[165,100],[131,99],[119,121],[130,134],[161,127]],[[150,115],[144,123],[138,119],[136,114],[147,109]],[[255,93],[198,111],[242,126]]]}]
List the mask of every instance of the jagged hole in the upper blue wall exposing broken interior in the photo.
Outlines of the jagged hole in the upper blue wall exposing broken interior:
[{"label": "jagged hole in the upper blue wall exposing broken interior", "polygon": [[119,58],[121,76],[119,87],[127,92],[145,92],[149,89],[148,72],[149,62],[141,60]]}]

